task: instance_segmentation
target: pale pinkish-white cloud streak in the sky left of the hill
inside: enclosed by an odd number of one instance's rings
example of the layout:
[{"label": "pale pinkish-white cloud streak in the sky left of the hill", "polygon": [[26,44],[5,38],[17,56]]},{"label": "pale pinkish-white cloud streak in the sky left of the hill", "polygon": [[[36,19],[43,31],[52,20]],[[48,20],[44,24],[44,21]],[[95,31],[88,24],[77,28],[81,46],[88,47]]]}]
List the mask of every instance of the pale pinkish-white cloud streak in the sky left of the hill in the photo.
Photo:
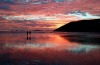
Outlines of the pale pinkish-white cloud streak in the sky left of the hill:
[{"label": "pale pinkish-white cloud streak in the sky left of the hill", "polygon": [[20,16],[4,16],[7,20],[59,20],[59,18],[53,16],[44,15],[20,15]]}]

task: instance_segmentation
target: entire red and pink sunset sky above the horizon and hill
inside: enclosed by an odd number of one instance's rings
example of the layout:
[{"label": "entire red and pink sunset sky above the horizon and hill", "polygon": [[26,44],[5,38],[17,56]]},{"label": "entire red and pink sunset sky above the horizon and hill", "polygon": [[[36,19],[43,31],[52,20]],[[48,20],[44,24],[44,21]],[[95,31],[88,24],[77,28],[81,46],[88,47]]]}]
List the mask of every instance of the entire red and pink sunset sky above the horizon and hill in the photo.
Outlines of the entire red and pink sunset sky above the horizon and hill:
[{"label": "entire red and pink sunset sky above the horizon and hill", "polygon": [[100,0],[0,0],[0,31],[54,30],[100,18]]}]

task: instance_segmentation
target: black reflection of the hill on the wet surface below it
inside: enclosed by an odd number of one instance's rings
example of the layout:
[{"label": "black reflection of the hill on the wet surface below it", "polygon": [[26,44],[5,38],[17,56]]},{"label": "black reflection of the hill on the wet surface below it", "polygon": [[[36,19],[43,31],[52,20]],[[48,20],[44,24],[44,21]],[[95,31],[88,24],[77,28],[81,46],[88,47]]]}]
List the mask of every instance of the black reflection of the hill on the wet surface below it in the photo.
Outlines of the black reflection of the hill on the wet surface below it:
[{"label": "black reflection of the hill on the wet surface below it", "polygon": [[68,35],[62,35],[62,37],[68,39],[71,42],[77,42],[82,44],[97,44],[100,45],[99,33],[68,33]]}]

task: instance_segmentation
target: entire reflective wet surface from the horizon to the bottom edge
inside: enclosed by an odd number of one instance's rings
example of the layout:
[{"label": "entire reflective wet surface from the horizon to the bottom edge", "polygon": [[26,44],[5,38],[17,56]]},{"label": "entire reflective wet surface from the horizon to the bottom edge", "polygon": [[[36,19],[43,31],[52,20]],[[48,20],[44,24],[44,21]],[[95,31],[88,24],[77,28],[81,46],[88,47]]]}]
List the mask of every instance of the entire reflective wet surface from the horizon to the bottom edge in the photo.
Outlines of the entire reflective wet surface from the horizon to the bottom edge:
[{"label": "entire reflective wet surface from the horizon to the bottom edge", "polygon": [[0,33],[0,65],[100,65],[100,34]]}]

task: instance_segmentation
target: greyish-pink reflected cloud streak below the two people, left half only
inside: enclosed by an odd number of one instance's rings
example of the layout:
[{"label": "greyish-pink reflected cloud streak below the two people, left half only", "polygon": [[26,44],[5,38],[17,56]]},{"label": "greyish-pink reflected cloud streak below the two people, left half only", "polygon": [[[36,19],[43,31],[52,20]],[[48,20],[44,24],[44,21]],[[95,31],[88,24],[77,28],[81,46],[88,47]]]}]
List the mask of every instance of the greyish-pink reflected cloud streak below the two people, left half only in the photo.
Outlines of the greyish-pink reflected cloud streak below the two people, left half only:
[{"label": "greyish-pink reflected cloud streak below the two people, left half only", "polygon": [[55,45],[53,44],[5,44],[4,48],[27,48],[27,49],[45,49],[45,48],[53,48]]}]

